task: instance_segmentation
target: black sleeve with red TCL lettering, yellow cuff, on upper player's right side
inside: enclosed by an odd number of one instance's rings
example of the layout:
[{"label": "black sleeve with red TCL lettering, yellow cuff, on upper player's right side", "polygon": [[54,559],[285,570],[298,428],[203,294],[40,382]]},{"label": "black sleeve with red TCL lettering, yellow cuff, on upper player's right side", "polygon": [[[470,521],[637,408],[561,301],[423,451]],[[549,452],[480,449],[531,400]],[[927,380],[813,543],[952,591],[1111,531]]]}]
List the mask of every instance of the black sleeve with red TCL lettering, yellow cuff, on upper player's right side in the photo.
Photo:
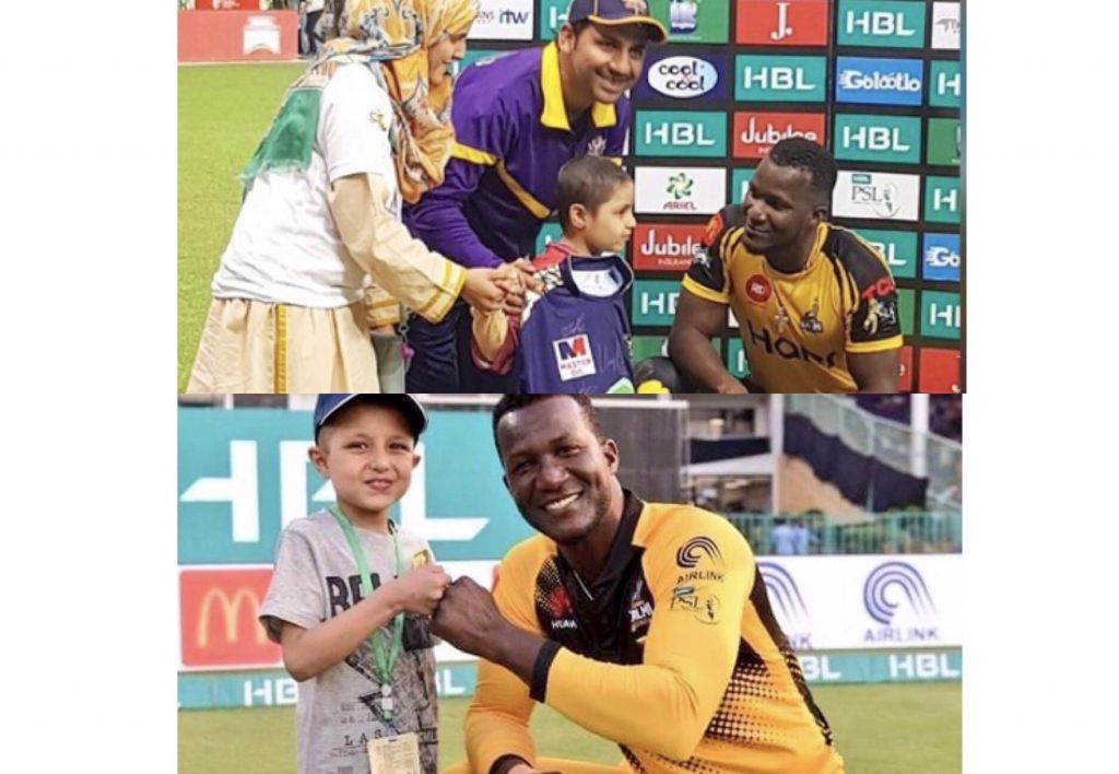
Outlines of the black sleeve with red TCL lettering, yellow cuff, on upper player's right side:
[{"label": "black sleeve with red TCL lettering, yellow cuff, on upper player's right side", "polygon": [[902,345],[897,311],[897,286],[885,259],[862,240],[853,237],[844,265],[854,299],[848,317],[846,349],[855,354],[896,349]]}]

